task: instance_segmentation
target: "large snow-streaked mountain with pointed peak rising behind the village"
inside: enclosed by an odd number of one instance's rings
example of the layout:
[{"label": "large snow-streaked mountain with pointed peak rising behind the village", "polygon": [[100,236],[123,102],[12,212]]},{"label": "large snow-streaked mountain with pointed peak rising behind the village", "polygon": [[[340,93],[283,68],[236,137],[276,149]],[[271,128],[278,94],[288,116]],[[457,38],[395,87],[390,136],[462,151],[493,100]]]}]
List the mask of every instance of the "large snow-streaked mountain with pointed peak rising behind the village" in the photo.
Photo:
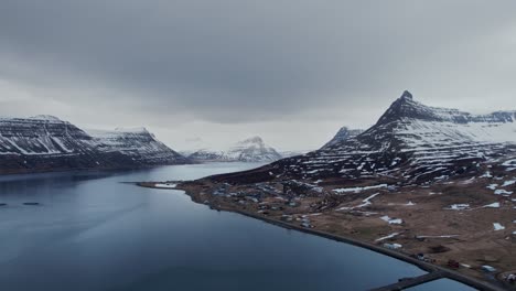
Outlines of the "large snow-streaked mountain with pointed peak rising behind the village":
[{"label": "large snow-streaked mountain with pointed peak rising behind the village", "polygon": [[383,177],[429,183],[476,173],[484,162],[514,155],[516,111],[472,115],[422,105],[405,91],[363,133],[280,160],[261,171],[262,179]]}]

